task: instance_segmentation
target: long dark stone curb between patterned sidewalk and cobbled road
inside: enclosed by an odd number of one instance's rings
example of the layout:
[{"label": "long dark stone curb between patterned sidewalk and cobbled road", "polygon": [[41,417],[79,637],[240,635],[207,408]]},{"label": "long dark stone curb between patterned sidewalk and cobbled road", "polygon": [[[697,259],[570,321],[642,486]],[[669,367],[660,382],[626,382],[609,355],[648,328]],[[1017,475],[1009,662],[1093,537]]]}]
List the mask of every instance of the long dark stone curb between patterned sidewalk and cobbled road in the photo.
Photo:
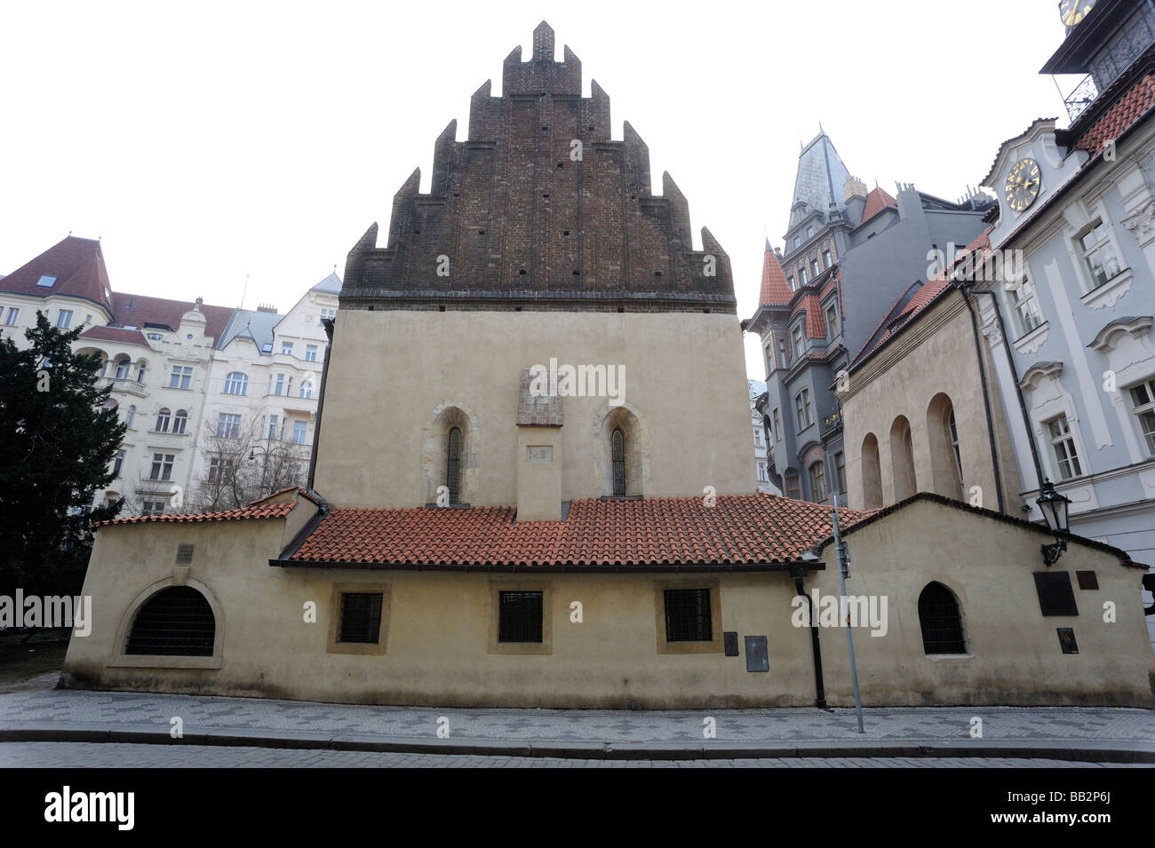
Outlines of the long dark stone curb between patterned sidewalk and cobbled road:
[{"label": "long dark stone curb between patterned sidewalk and cobbled road", "polygon": [[228,748],[311,749],[330,751],[378,751],[386,753],[471,755],[483,757],[551,757],[560,759],[805,759],[830,757],[999,757],[1014,759],[1061,759],[1080,763],[1152,763],[1155,744],[1126,741],[1073,741],[1073,748],[1056,748],[1053,740],[991,740],[975,745],[951,741],[869,740],[784,743],[782,741],[728,744],[668,742],[521,742],[515,740],[425,740],[277,730],[218,729],[188,733],[174,740],[167,733],[141,727],[111,730],[95,726],[25,726],[0,729],[2,742],[117,742],[150,745],[221,745]]}]

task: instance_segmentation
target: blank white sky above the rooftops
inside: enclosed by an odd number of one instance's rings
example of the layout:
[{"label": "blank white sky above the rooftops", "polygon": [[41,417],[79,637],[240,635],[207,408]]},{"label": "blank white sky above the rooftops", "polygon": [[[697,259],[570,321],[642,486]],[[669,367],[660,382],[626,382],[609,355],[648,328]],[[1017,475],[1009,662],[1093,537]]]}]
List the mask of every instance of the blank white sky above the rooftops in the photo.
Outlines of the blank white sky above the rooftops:
[{"label": "blank white sky above the rooftops", "polygon": [[[730,255],[739,316],[781,245],[799,142],[955,200],[1061,99],[1055,0],[3,2],[0,273],[100,237],[120,292],[282,312],[422,168],[545,17]],[[1064,90],[1075,81],[1061,80]],[[747,370],[762,378],[757,340]]]}]

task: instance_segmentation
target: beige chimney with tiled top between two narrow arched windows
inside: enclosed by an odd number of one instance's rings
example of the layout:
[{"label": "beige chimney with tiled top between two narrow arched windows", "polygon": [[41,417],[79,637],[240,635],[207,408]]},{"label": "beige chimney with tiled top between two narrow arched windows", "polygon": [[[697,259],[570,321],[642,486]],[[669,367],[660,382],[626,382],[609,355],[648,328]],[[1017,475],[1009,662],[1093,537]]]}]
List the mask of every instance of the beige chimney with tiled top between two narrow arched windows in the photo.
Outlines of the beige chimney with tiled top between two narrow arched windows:
[{"label": "beige chimney with tiled top between two narrow arched windows", "polygon": [[521,372],[517,393],[517,521],[561,520],[561,397],[550,375]]}]

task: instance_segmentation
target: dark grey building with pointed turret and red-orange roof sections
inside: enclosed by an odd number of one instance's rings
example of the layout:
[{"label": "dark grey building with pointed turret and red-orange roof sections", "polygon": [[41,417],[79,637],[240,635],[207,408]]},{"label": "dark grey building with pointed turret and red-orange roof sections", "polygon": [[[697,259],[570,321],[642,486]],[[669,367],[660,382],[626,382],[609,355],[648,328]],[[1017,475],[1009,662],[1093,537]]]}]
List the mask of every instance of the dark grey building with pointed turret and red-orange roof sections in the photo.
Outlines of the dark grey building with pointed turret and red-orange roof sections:
[{"label": "dark grey building with pointed turret and red-orange roof sections", "polygon": [[759,307],[744,322],[762,342],[767,461],[787,496],[826,502],[845,491],[839,372],[912,283],[979,235],[991,204],[983,194],[952,203],[910,185],[895,196],[867,190],[826,133],[803,148],[785,250],[767,241]]}]

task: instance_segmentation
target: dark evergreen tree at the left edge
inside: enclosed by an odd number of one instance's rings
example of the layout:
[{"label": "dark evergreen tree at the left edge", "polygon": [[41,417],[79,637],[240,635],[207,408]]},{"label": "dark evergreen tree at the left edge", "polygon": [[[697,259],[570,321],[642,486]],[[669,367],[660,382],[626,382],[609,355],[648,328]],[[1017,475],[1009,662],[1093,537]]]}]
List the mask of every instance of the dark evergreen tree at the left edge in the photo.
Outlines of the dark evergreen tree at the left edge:
[{"label": "dark evergreen tree at the left edge", "polygon": [[127,427],[104,408],[100,358],[73,352],[82,329],[54,328],[38,310],[29,348],[0,342],[0,594],[79,594],[91,525],[122,504],[88,509],[113,479]]}]

